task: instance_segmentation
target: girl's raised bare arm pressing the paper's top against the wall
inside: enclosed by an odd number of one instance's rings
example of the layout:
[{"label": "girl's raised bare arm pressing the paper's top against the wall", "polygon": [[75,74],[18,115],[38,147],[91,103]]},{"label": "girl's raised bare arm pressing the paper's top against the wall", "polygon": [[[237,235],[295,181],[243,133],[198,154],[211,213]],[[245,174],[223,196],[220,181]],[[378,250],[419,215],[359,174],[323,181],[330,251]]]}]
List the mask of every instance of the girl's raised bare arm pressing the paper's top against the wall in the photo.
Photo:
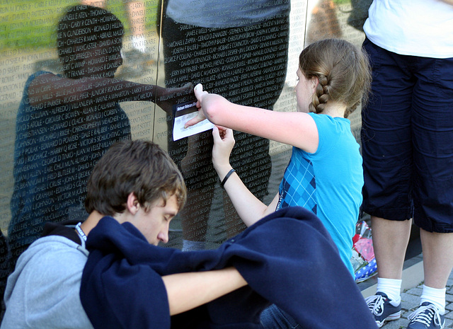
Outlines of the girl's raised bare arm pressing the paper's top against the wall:
[{"label": "girl's raised bare arm pressing the paper's top against the wall", "polygon": [[195,86],[194,91],[200,111],[186,126],[195,125],[207,118],[214,125],[272,139],[310,153],[318,149],[318,129],[307,113],[277,112],[237,105],[222,96],[203,91],[200,84]]}]

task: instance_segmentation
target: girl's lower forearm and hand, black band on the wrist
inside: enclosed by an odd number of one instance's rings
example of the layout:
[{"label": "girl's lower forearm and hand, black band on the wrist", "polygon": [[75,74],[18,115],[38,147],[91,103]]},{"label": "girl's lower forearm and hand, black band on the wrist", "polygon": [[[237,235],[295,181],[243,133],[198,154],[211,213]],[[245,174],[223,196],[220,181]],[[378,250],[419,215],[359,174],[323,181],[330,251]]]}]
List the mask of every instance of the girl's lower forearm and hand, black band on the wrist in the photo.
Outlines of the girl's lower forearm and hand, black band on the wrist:
[{"label": "girl's lower forearm and hand, black band on the wrist", "polygon": [[[212,163],[220,180],[223,181],[226,174],[232,169],[229,163],[229,155],[234,146],[233,131],[222,127],[214,127],[212,136],[214,137]],[[266,215],[275,212],[277,196],[269,206],[266,206],[248,190],[236,173],[232,173],[229,176],[224,184],[224,189],[228,193],[239,217],[247,226],[251,226]]]}]

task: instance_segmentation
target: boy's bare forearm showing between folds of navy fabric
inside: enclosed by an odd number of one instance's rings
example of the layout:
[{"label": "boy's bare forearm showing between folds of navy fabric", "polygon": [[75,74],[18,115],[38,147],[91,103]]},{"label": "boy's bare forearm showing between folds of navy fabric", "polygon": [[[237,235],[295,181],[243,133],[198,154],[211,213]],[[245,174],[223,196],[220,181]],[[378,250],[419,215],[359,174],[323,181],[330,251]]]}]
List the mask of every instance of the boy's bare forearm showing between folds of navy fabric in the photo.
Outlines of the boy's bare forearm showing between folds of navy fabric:
[{"label": "boy's bare forearm showing between folds of navy fabric", "polygon": [[162,279],[167,290],[171,316],[206,304],[247,284],[234,267],[177,273],[166,275]]}]

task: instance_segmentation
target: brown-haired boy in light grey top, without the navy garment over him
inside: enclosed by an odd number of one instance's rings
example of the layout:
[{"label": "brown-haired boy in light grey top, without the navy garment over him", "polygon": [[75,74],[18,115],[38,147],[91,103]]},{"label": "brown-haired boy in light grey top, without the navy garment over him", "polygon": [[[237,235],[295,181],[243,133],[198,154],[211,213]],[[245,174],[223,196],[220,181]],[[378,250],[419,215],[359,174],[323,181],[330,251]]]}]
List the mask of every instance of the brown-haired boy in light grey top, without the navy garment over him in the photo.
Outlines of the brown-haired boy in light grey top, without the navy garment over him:
[{"label": "brown-haired boy in light grey top, without the navy garment over him", "polygon": [[[186,197],[183,177],[168,154],[141,140],[111,146],[93,169],[87,190],[86,221],[48,224],[44,236],[18,259],[6,286],[1,328],[93,328],[79,296],[88,233],[105,217],[129,222],[153,245],[166,243],[168,224]],[[246,285],[233,267],[161,279],[172,314]]]}]

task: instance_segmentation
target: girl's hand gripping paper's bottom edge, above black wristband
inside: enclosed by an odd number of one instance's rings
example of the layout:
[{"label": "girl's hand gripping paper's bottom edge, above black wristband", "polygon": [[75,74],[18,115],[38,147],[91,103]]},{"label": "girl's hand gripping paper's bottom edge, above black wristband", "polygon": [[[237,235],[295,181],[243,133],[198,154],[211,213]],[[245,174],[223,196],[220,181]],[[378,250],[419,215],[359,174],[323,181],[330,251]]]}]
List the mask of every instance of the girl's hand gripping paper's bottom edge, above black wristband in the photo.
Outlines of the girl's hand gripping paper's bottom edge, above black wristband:
[{"label": "girl's hand gripping paper's bottom edge, above black wristband", "polygon": [[233,130],[214,126],[212,137],[214,137],[214,147],[212,147],[212,163],[214,164],[214,168],[220,169],[222,166],[229,167],[229,156],[234,146]]}]

